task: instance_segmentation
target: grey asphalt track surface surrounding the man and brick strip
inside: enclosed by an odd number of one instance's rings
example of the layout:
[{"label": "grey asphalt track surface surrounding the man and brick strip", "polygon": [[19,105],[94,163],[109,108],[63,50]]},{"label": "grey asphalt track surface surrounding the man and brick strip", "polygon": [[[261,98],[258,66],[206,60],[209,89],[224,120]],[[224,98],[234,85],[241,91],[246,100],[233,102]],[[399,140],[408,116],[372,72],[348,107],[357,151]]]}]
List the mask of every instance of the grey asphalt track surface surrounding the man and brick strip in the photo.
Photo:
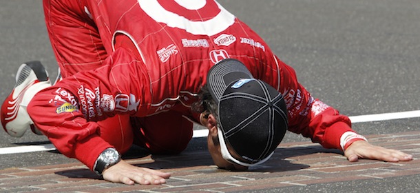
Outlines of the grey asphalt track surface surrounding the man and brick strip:
[{"label": "grey asphalt track surface surrounding the man and brick strip", "polygon": [[[295,68],[298,79],[313,96],[342,114],[420,110],[418,0],[219,2],[258,32],[282,61]],[[14,86],[21,63],[41,61],[51,79],[56,77],[57,66],[45,30],[42,1],[0,0],[0,3],[3,101]],[[420,132],[420,118],[354,123],[353,128],[365,135]],[[284,142],[293,141],[308,139],[287,133]],[[0,148],[45,143],[48,143],[45,136],[31,132],[17,139],[0,131]],[[204,143],[202,138],[193,139],[187,151],[205,148]],[[74,162],[77,161],[55,151],[3,154],[0,170]],[[301,190],[352,192],[354,186],[358,190],[368,186],[375,192],[401,192],[415,190],[417,187],[412,185],[419,185],[419,180],[419,175],[399,176],[388,182],[347,181],[309,185]]]}]

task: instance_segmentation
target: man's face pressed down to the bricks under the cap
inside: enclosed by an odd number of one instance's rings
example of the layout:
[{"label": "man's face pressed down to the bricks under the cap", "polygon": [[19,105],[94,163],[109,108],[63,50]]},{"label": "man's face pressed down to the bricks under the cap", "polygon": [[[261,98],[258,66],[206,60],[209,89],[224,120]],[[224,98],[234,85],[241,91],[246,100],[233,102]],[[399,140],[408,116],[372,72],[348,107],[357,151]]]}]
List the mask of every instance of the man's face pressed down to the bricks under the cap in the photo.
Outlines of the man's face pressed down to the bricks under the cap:
[{"label": "man's face pressed down to the bricks under the cap", "polygon": [[248,167],[239,165],[237,163],[231,163],[222,157],[222,152],[220,151],[220,144],[218,143],[218,136],[212,136],[209,133],[207,136],[207,145],[209,147],[209,152],[214,163],[223,169],[232,170],[232,171],[244,171],[248,170]]}]

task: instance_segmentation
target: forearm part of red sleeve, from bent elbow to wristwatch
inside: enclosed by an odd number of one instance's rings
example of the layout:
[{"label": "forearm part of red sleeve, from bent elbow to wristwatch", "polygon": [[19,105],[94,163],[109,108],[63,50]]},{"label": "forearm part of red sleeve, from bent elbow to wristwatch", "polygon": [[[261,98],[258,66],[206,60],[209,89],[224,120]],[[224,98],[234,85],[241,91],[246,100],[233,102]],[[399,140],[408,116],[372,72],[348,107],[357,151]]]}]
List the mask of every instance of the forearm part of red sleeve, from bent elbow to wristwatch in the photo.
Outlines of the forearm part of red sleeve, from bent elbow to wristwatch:
[{"label": "forearm part of red sleeve, from bent elbow to wristwatch", "polygon": [[63,88],[48,88],[34,96],[28,113],[59,152],[92,169],[98,155],[111,145],[98,136],[97,123],[85,119],[74,99],[75,95]]}]

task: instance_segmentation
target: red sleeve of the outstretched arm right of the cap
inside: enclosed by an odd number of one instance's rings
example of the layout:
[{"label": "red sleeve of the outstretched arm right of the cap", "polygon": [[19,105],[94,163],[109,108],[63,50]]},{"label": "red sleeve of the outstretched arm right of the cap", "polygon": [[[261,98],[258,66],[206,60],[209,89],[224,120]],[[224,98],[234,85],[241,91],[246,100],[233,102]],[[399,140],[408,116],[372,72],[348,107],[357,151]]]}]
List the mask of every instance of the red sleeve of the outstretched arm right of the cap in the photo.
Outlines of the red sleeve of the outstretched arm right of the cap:
[{"label": "red sleeve of the outstretched arm right of the cap", "polygon": [[344,132],[353,131],[348,116],[314,99],[297,81],[293,68],[279,59],[277,65],[280,69],[279,91],[284,95],[288,109],[288,130],[309,137],[324,148],[341,150],[340,137]]}]

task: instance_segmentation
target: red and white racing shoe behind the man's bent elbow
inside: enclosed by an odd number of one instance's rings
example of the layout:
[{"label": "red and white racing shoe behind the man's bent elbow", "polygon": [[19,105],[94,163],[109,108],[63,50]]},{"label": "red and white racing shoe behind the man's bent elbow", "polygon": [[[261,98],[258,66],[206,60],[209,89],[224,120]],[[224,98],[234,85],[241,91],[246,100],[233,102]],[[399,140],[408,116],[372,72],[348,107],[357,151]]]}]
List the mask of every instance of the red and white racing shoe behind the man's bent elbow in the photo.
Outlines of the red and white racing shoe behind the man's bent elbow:
[{"label": "red and white racing shoe behind the man's bent elbow", "polygon": [[16,85],[1,105],[1,124],[10,136],[21,137],[28,128],[36,134],[41,134],[34,127],[26,107],[37,92],[50,86],[48,72],[40,61],[29,61],[19,67]]}]

